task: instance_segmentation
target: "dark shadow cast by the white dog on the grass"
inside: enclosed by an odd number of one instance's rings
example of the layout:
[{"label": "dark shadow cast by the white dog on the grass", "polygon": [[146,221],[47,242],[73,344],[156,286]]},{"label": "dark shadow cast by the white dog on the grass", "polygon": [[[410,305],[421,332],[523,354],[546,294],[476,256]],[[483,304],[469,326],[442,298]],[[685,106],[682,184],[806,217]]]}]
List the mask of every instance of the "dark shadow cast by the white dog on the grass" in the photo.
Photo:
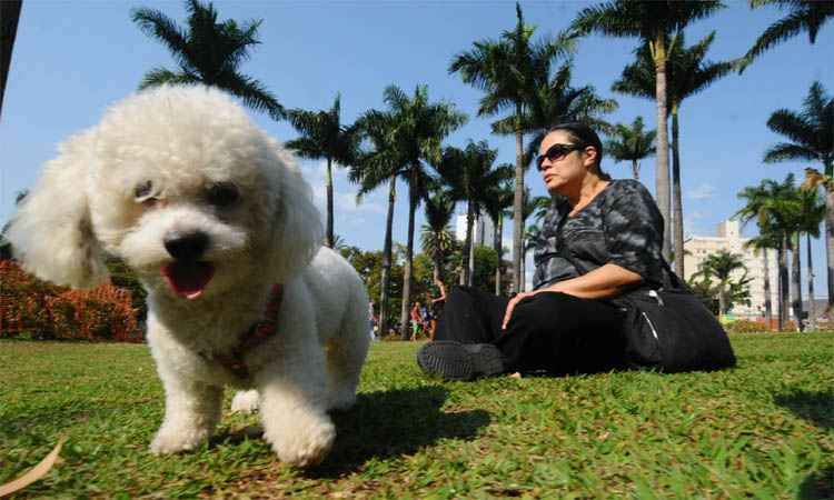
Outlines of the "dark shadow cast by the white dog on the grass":
[{"label": "dark shadow cast by the white dog on the grass", "polygon": [[[304,471],[310,478],[336,478],[358,470],[370,459],[414,453],[440,439],[473,439],[489,424],[484,410],[444,412],[448,390],[438,386],[360,393],[356,406],[332,412],[336,442],[325,461]],[[212,441],[236,442],[260,436],[249,427]]]}]

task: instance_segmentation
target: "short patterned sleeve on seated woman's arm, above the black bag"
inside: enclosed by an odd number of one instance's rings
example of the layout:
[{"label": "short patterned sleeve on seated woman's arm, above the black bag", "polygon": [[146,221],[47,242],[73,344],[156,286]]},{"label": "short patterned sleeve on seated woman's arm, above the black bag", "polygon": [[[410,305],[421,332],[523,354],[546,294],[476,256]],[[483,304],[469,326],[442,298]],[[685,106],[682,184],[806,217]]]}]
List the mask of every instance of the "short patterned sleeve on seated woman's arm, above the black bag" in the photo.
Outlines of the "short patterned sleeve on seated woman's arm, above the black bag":
[{"label": "short patterned sleeve on seated woman's arm, above the black bag", "polygon": [[617,184],[603,213],[608,262],[663,283],[663,216],[642,183]]}]

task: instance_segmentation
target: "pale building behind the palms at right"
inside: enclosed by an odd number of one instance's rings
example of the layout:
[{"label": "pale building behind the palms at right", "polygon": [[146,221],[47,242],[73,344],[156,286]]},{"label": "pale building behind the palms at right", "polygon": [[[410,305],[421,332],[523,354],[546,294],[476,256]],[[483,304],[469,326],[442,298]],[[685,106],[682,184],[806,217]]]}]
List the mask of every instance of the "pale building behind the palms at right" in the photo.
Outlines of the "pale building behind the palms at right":
[{"label": "pale building behind the palms at right", "polygon": [[[749,238],[742,238],[741,224],[737,220],[726,220],[718,224],[718,234],[715,237],[692,237],[684,242],[684,273],[688,281],[699,269],[709,254],[721,250],[742,256],[744,264],[747,267],[747,277],[753,278],[749,282],[751,304],[736,304],[732,312],[738,317],[763,318],[765,314],[765,293],[764,293],[764,254],[762,251],[746,249],[744,243]],[[776,316],[778,300],[778,268],[776,262],[776,251],[767,250],[767,266],[771,274],[771,306],[772,313]],[[733,279],[744,276],[744,271],[733,272]],[[792,313],[792,312],[791,312]]]}]

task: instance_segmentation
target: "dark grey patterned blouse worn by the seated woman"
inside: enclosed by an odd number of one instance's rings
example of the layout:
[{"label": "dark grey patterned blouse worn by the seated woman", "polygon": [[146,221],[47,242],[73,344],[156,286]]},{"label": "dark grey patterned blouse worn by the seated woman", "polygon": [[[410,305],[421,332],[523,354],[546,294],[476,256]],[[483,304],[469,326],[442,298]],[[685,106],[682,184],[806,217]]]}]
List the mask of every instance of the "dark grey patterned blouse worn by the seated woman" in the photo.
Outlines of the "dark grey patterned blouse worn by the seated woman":
[{"label": "dark grey patterned blouse worn by the seated woman", "polygon": [[[534,238],[534,289],[580,274],[558,248],[558,227],[569,211],[567,198],[554,197]],[[645,282],[667,282],[662,263],[663,217],[652,194],[636,180],[610,181],[565,220],[562,231],[563,244],[584,272],[613,263],[636,272]]]}]

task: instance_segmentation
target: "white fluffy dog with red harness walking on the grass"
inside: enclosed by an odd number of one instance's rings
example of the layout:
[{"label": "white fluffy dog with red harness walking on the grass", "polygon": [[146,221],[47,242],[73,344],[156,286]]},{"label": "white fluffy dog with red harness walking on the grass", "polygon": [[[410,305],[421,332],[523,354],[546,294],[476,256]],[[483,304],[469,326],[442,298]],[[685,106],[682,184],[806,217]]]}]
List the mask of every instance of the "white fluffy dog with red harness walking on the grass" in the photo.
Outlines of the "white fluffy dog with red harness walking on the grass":
[{"label": "white fluffy dog with red harness walking on the grass", "polygon": [[206,440],[228,384],[252,389],[232,409],[259,408],[280,460],[321,461],[336,436],[327,410],[356,400],[368,299],[321,248],[292,158],[205,87],[135,94],[59,152],[7,236],[28,271],[58,284],[100,283],[106,256],[139,276],[166,392],[151,451]]}]

